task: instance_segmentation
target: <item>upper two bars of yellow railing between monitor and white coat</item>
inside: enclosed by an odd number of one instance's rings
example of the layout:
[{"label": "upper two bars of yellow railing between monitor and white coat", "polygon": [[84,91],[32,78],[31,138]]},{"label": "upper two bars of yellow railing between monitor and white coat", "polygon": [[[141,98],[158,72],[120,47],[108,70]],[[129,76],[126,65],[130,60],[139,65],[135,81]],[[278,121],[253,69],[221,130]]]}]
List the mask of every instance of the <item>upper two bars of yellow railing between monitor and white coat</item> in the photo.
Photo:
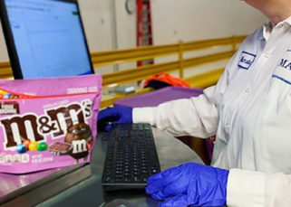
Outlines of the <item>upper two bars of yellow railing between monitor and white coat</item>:
[{"label": "upper two bars of yellow railing between monitor and white coat", "polygon": [[[114,52],[92,52],[92,62],[94,68],[98,68],[104,65],[112,65],[128,61],[143,61],[176,54],[179,56],[178,61],[152,64],[105,74],[103,75],[103,86],[106,87],[112,83],[124,84],[130,81],[143,80],[160,71],[179,71],[179,78],[184,79],[185,69],[213,61],[229,59],[233,53],[236,52],[237,45],[245,38],[246,36],[234,36],[207,41],[179,42],[170,45],[146,46]],[[185,59],[183,57],[185,52],[201,51],[218,46],[231,46],[231,49],[226,52],[217,52],[195,58]]]}]

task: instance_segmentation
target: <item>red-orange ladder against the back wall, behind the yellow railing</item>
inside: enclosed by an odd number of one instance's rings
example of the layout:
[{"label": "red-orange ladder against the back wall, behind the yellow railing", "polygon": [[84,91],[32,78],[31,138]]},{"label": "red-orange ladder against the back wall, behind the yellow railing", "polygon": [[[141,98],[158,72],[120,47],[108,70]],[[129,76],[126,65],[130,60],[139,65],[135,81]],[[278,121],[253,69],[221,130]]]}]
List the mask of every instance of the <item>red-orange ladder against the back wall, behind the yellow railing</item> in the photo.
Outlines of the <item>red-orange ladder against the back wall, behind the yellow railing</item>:
[{"label": "red-orange ladder against the back wall, behind the yellow railing", "polygon": [[[137,0],[137,46],[152,45],[150,0]],[[138,66],[152,64],[153,60],[138,61]]]}]

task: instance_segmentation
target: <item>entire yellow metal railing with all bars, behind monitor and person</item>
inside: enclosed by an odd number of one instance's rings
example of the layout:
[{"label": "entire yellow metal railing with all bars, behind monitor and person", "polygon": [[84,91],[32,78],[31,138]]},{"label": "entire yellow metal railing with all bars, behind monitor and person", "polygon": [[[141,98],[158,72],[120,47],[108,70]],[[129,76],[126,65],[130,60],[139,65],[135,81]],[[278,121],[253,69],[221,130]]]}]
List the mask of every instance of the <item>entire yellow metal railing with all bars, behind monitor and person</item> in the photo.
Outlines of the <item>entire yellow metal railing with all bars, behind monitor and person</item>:
[{"label": "entire yellow metal railing with all bars, behind monitor and person", "polygon": [[[115,71],[112,73],[106,73],[102,75],[103,88],[108,86],[128,84],[140,80],[147,79],[152,74],[158,72],[179,72],[179,78],[186,80],[191,87],[205,88],[213,85],[219,79],[223,68],[213,69],[209,72],[204,72],[192,77],[185,77],[185,71],[197,67],[202,64],[228,60],[234,52],[237,51],[237,46],[240,44],[246,36],[232,36],[228,38],[219,38],[204,41],[195,42],[179,42],[176,44],[157,45],[157,46],[145,46],[139,48],[132,48],[126,50],[115,50],[110,52],[92,52],[93,67],[99,68],[106,65],[120,64],[124,62],[136,62],[149,59],[155,59],[160,57],[167,57],[176,55],[177,61],[166,61],[163,63],[156,63],[145,65],[141,67],[135,67],[128,70]],[[228,46],[228,50],[222,50],[222,52],[210,52],[208,54],[195,56],[192,58],[185,58],[187,52],[207,51],[213,48],[223,48]],[[193,69],[195,70],[195,69]],[[12,70],[9,62],[0,62],[0,78],[7,79],[12,78]],[[147,92],[150,89],[141,89],[134,94],[129,95],[115,95],[108,99],[102,99],[102,107],[112,105],[115,99],[121,99],[124,97]]]}]

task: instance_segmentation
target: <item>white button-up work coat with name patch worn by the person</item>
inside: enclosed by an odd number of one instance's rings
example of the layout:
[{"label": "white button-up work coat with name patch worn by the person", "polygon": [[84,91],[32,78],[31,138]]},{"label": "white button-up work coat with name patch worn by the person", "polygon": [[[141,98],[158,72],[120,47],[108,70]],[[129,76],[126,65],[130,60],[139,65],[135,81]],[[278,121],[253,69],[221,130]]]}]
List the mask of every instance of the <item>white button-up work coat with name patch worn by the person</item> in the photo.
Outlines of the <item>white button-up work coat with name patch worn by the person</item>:
[{"label": "white button-up work coat with name patch worn by the person", "polygon": [[212,165],[230,169],[228,206],[291,206],[291,17],[242,43],[198,98],[134,108],[174,136],[216,135]]}]

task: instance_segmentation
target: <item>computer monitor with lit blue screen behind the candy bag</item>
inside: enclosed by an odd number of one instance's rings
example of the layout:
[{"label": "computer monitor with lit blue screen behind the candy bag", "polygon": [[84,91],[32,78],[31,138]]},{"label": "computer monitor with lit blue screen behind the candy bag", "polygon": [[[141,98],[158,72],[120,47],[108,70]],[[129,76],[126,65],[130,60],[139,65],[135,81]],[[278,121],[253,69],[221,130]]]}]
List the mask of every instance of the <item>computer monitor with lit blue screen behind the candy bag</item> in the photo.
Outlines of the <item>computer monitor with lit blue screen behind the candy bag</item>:
[{"label": "computer monitor with lit blue screen behind the candy bag", "polygon": [[76,0],[0,0],[15,79],[92,74]]}]

